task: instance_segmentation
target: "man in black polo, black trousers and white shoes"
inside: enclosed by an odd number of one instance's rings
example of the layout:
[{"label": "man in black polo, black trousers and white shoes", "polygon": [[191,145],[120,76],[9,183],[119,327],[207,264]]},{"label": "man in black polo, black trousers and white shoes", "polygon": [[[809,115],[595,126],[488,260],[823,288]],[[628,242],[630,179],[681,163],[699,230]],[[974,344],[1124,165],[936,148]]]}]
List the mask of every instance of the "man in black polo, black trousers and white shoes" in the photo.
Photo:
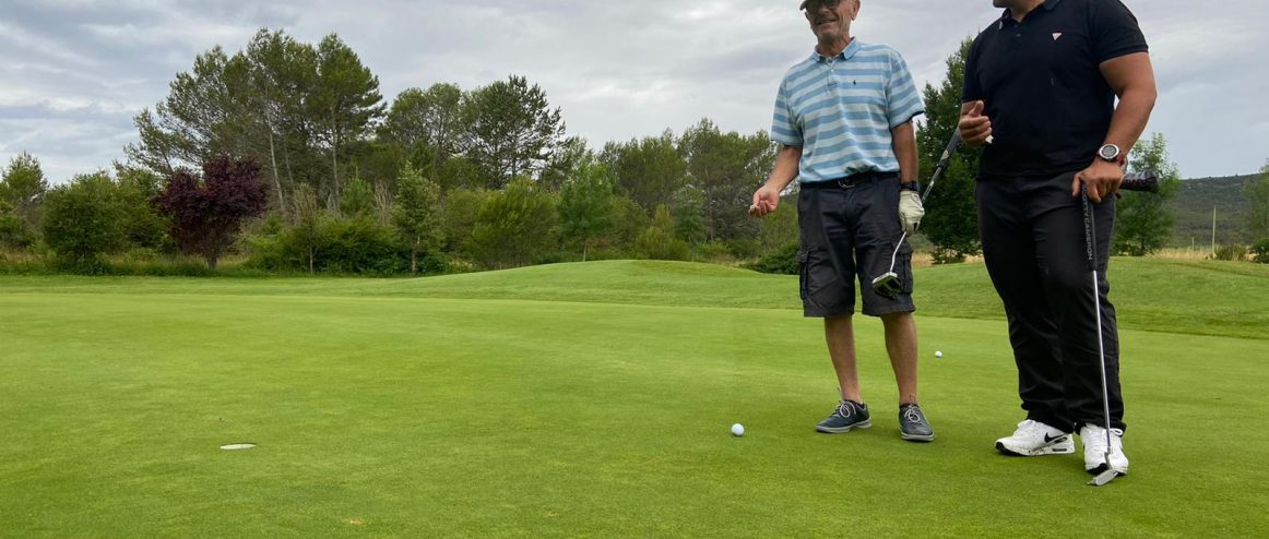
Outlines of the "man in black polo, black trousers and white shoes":
[{"label": "man in black polo, black trousers and white shoes", "polygon": [[[1128,471],[1114,306],[1105,295],[1123,159],[1150,119],[1156,89],[1146,39],[1119,0],[994,0],[1005,8],[966,60],[961,136],[987,145],[978,171],[978,227],[987,271],[1009,317],[1027,420],[996,449],[1075,453],[1085,469]],[[1119,104],[1115,107],[1115,98]],[[1094,203],[1100,331],[1112,413],[1112,457],[1088,282],[1081,184]]]}]

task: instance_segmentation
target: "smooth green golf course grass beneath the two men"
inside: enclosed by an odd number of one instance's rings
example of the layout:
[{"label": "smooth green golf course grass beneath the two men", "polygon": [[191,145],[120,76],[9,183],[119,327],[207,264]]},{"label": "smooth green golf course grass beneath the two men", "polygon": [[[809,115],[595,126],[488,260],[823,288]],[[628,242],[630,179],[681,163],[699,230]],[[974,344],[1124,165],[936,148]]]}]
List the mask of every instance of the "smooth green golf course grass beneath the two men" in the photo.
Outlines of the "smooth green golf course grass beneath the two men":
[{"label": "smooth green golf course grass beneath the two men", "polygon": [[981,265],[916,278],[933,444],[898,438],[873,320],[874,426],[813,432],[836,391],[789,276],[0,278],[0,536],[1269,533],[1269,268],[1113,263],[1132,468],[1104,488],[996,454],[999,302]]}]

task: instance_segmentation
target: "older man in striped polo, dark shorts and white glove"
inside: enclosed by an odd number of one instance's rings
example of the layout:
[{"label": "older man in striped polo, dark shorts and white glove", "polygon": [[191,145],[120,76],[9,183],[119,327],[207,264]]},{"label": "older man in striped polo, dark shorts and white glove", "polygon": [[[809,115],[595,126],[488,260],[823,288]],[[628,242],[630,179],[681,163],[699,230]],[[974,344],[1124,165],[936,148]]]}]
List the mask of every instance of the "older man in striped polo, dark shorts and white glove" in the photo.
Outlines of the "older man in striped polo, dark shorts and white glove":
[{"label": "older man in striped polo, dark shorts and white glove", "polygon": [[[898,384],[898,427],[905,440],[931,441],[934,431],[917,406],[916,323],[912,320],[911,254],[900,246],[924,212],[916,185],[912,118],[921,99],[897,51],[850,36],[859,0],[803,1],[817,44],[794,65],[775,98],[772,138],[783,145],[751,212],[764,217],[780,192],[801,179],[801,295],[807,317],[824,318],[829,355],[841,401],[820,432],[872,426],[855,368],[854,280],[863,284],[863,313],[881,317],[886,350]],[[881,295],[872,279],[895,271],[904,289]]]}]

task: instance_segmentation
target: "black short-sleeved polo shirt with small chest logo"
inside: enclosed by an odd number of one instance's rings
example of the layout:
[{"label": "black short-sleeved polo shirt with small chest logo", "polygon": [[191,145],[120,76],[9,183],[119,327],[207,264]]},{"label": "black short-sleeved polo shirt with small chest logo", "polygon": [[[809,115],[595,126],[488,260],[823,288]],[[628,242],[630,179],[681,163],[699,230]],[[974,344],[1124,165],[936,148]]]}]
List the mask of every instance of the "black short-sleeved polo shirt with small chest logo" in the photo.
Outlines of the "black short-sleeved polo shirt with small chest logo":
[{"label": "black short-sleeved polo shirt with small chest logo", "polygon": [[991,118],[980,178],[1089,166],[1114,115],[1115,94],[1099,66],[1147,51],[1119,0],[1048,0],[1022,23],[1006,9],[973,41],[964,65],[964,101],[981,99]]}]

